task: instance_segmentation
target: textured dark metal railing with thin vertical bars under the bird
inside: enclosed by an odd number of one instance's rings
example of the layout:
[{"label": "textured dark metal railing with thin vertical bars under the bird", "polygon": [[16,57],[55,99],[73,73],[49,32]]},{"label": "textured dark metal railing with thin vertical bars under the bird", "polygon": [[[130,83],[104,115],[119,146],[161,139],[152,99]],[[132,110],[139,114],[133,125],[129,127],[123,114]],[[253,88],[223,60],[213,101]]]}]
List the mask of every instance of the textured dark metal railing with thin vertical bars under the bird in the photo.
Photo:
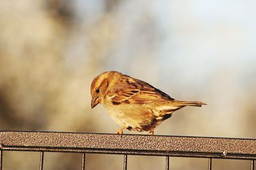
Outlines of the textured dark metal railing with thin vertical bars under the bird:
[{"label": "textured dark metal railing with thin vertical bars under the bird", "polygon": [[170,168],[169,157],[198,157],[209,159],[208,169],[212,168],[212,159],[244,159],[251,160],[253,170],[256,139],[1,131],[0,170],[3,152],[8,151],[41,152],[41,170],[44,152],[81,153],[83,170],[86,153],[122,154],[124,169],[127,169],[127,155],[152,155],[166,157],[166,169]]}]

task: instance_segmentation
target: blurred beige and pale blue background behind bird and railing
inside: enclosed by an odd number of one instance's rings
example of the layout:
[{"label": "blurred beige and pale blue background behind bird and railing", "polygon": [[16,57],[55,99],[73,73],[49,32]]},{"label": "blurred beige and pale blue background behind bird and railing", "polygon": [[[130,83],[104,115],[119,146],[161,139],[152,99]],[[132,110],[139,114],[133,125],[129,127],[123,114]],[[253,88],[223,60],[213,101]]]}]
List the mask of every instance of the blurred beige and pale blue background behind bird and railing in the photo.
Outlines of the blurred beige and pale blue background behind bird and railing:
[{"label": "blurred beige and pale blue background behind bird and railing", "polygon": [[[147,81],[175,99],[159,135],[256,138],[256,2],[0,1],[0,130],[113,133],[90,83],[104,71]],[[125,131],[125,133],[137,133]],[[147,133],[141,133],[147,134]],[[36,169],[40,153],[4,152],[3,169]],[[122,155],[86,156],[86,169],[122,169]],[[164,169],[164,157],[129,156],[129,169]],[[172,169],[207,159],[171,158]],[[45,153],[45,169],[80,169],[81,154]],[[213,160],[214,169],[250,169]]]}]

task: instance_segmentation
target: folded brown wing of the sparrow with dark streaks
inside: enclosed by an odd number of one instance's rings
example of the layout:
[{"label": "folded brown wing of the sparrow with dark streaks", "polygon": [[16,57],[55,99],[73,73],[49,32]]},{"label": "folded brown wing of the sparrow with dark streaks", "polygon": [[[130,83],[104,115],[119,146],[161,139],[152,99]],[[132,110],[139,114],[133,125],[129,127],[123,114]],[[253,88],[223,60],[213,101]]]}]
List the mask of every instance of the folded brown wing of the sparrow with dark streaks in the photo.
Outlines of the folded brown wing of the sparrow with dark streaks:
[{"label": "folded brown wing of the sparrow with dark streaks", "polygon": [[146,104],[154,101],[174,100],[152,85],[125,75],[113,87],[111,94],[113,94],[111,95],[111,102],[113,104]]}]

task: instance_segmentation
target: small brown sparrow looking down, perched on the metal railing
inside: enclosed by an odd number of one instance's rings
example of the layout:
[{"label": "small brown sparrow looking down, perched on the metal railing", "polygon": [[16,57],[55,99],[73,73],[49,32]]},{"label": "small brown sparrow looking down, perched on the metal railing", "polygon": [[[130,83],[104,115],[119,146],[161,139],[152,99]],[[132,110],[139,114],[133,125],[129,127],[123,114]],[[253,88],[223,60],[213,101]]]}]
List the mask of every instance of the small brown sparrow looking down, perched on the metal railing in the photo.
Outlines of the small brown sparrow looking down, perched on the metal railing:
[{"label": "small brown sparrow looking down, perched on the metal railing", "polygon": [[106,71],[96,76],[91,84],[91,108],[102,104],[120,129],[147,131],[154,134],[156,127],[185,106],[207,105],[199,101],[178,101],[145,81],[118,71]]}]

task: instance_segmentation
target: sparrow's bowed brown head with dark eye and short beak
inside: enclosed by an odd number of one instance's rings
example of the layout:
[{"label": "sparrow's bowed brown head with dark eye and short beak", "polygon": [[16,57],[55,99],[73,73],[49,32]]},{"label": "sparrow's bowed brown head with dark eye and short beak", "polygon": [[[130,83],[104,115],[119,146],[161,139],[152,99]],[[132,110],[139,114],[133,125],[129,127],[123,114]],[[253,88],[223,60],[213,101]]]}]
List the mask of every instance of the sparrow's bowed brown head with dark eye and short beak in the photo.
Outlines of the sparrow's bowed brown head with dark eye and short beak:
[{"label": "sparrow's bowed brown head with dark eye and short beak", "polygon": [[91,108],[94,108],[97,104],[102,102],[104,95],[106,94],[106,89],[109,86],[109,81],[112,80],[113,74],[115,73],[117,72],[107,71],[93,79],[91,85]]}]

